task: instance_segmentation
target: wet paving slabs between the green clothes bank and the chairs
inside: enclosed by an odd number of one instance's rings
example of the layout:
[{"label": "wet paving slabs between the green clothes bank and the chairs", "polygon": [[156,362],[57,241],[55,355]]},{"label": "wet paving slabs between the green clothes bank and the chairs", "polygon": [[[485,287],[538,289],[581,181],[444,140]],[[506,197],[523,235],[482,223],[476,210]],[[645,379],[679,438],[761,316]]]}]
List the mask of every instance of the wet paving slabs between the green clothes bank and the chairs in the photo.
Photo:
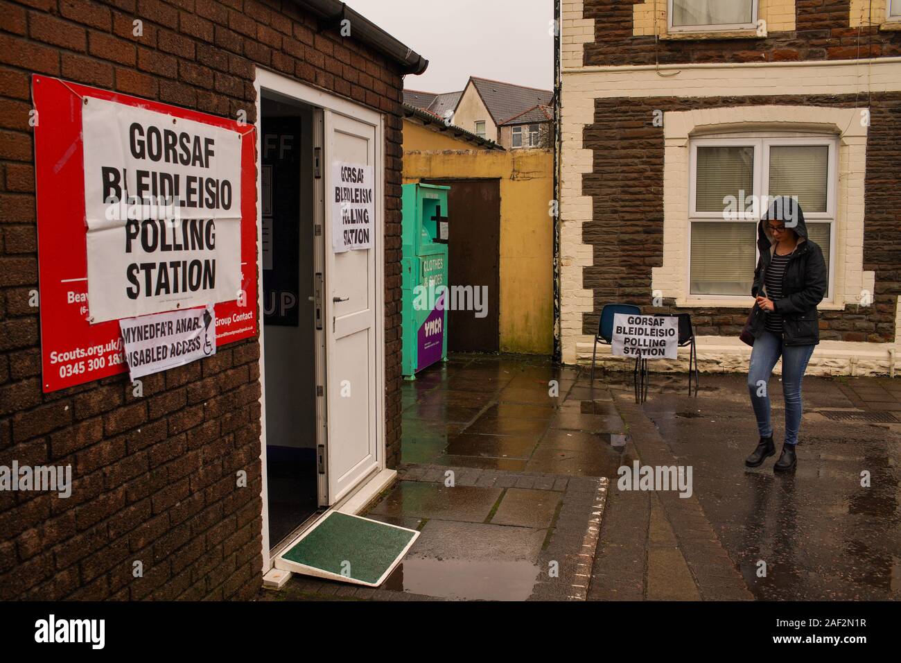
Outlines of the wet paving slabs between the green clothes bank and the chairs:
[{"label": "wet paving slabs between the green clothes bank and the chairs", "polygon": [[[592,386],[582,373],[542,357],[453,355],[404,384],[402,460],[609,475],[616,466],[610,437],[623,436],[623,420],[605,385]],[[434,386],[422,390],[420,382]],[[419,422],[442,413],[444,420],[460,423],[460,430],[446,437],[441,450],[434,436],[423,445]],[[560,447],[554,440],[561,430],[595,437],[581,436],[579,447]]]}]

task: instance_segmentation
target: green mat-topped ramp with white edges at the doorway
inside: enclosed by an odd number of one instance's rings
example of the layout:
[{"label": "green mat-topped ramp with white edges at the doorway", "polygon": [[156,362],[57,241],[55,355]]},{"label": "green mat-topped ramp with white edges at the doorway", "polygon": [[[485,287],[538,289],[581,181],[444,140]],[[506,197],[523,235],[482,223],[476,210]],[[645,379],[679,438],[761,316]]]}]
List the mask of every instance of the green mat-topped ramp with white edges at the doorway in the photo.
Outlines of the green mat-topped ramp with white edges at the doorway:
[{"label": "green mat-topped ramp with white edges at the doorway", "polygon": [[415,529],[332,511],[278,557],[285,571],[378,587],[419,537]]}]

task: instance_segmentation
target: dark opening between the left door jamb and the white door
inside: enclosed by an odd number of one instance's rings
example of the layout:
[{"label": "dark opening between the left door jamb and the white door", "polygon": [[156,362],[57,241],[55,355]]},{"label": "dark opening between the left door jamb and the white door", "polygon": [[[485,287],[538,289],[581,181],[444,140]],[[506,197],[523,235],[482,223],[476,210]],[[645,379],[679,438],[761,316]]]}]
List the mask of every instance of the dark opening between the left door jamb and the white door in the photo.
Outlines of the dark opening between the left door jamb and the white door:
[{"label": "dark opening between the left door jamb and the white door", "polygon": [[[269,548],[318,511],[316,235],[312,106],[260,100],[266,472]],[[317,319],[320,318],[320,319]]]}]

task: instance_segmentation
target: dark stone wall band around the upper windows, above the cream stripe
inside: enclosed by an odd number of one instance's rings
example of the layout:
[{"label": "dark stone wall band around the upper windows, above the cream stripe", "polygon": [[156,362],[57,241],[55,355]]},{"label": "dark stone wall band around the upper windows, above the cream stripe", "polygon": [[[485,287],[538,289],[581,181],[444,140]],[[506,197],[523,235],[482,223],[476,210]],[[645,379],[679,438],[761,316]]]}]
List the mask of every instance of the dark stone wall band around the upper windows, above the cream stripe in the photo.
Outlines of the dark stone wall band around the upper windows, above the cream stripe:
[{"label": "dark stone wall band around the upper windows, above the cream stripe", "polygon": [[595,38],[585,44],[584,64],[848,60],[901,56],[901,32],[880,31],[878,26],[851,26],[851,0],[796,0],[795,30],[772,31],[766,38],[662,39],[656,44],[653,32],[633,35],[634,5],[647,4],[647,0],[585,0],[584,17],[595,19]]}]

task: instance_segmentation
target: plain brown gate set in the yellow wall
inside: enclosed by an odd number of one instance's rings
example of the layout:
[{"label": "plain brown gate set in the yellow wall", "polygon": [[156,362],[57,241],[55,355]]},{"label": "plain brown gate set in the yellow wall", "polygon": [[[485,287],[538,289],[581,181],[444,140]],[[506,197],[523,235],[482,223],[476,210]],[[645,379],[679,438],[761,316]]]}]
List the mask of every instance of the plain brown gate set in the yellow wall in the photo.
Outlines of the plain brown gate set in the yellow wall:
[{"label": "plain brown gate set in the yellow wall", "polygon": [[487,316],[448,311],[448,350],[497,352],[500,347],[500,180],[423,180],[451,187],[448,280],[451,286],[487,286]]}]

